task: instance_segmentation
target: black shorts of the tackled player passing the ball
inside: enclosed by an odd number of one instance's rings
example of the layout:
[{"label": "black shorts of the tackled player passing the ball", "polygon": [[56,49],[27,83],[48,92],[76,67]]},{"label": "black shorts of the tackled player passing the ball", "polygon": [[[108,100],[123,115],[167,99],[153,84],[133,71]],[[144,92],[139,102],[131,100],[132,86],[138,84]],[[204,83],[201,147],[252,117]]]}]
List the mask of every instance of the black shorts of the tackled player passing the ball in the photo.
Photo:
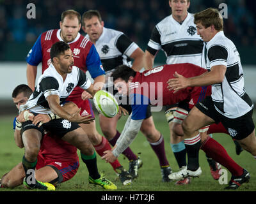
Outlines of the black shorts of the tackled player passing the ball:
[{"label": "black shorts of the tackled player passing the ball", "polygon": [[27,129],[37,129],[42,133],[42,135],[44,135],[45,131],[50,131],[52,134],[62,138],[67,133],[77,128],[80,128],[80,126],[76,122],[69,122],[65,119],[50,120],[49,122],[40,126],[40,128],[38,128],[37,125],[32,124],[30,120],[28,120],[27,122],[23,122],[21,134],[24,133],[24,131],[26,131]]}]

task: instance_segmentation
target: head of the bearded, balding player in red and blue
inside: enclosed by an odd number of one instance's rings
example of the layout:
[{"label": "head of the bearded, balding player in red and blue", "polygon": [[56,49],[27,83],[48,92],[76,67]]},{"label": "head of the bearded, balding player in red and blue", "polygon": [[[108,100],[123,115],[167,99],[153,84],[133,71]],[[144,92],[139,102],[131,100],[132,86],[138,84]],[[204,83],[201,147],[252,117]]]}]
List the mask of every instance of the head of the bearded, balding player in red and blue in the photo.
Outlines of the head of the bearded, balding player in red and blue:
[{"label": "head of the bearded, balding player in red and blue", "polygon": [[60,21],[60,35],[66,42],[72,42],[75,40],[78,32],[81,28],[81,15],[75,10],[67,10],[61,13]]}]

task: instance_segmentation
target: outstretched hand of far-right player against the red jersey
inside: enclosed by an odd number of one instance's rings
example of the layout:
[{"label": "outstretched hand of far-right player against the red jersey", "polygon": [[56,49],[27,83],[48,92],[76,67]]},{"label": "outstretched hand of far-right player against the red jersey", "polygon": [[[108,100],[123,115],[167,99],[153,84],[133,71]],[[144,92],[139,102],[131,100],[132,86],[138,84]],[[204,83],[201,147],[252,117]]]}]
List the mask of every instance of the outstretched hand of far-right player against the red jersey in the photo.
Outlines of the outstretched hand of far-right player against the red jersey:
[{"label": "outstretched hand of far-right player against the red jersey", "polygon": [[167,81],[167,84],[168,84],[167,89],[169,91],[173,90],[173,93],[175,93],[175,92],[179,91],[180,89],[185,89],[186,87],[189,86],[188,78],[183,77],[182,75],[179,75],[177,73],[177,71],[175,71],[173,77],[174,78],[170,78]]}]

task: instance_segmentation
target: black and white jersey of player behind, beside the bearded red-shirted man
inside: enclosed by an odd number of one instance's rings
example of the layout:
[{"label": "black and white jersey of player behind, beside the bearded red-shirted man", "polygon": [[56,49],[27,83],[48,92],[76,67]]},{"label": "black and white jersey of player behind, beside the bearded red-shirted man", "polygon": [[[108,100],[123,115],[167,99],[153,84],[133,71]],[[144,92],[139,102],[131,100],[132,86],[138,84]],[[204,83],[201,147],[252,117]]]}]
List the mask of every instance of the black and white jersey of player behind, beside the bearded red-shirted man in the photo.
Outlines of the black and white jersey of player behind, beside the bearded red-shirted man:
[{"label": "black and white jersey of player behind, beside the bearded red-shirted man", "polygon": [[[90,39],[88,34],[85,37]],[[138,45],[132,42],[124,33],[103,27],[102,34],[96,41],[95,47],[100,55],[107,80],[116,66],[121,64],[132,66],[130,56],[138,48]]]}]

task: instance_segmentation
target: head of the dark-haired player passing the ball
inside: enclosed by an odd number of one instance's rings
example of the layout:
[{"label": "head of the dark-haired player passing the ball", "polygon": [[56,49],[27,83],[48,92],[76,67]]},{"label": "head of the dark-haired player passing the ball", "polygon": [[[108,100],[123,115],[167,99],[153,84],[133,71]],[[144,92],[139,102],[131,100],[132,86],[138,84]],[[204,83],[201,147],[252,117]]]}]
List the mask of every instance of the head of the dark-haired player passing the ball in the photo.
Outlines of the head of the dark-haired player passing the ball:
[{"label": "head of the dark-haired player passing the ball", "polygon": [[73,53],[67,43],[58,41],[51,47],[51,61],[58,73],[65,74],[72,72],[74,65]]}]

